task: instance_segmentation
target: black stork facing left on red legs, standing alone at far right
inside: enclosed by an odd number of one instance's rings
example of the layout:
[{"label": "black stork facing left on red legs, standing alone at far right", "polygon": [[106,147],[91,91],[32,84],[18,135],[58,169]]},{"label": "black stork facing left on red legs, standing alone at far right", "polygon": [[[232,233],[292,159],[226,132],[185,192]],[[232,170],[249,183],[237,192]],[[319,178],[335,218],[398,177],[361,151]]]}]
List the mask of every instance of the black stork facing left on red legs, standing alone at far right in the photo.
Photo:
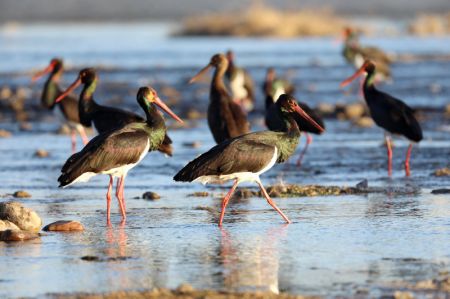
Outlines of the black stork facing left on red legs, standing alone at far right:
[{"label": "black stork facing left on red legs, standing alone at far right", "polygon": [[[379,91],[374,85],[375,63],[367,60],[359,70],[341,83],[346,86],[362,74],[366,74],[363,85],[364,98],[369,106],[370,114],[375,123],[391,134],[400,134],[408,138],[411,143],[405,159],[405,174],[410,175],[409,160],[413,143],[422,140],[422,128],[414,117],[414,111],[403,101]],[[388,174],[392,174],[392,146],[391,138],[386,134],[386,147],[388,153]]]}]

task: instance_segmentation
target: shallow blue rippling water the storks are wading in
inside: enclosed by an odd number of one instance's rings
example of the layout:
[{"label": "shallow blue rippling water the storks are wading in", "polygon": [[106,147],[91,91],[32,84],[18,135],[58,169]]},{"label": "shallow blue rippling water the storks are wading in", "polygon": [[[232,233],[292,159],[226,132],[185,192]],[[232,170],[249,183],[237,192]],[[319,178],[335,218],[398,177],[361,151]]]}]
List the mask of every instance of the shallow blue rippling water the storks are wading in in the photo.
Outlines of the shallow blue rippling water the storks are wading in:
[{"label": "shallow blue rippling water the storks are wading in", "polygon": [[[133,99],[136,87],[149,81],[157,86],[174,86],[182,92],[180,103],[190,99],[205,103],[206,86],[187,87],[184,82],[206,64],[210,54],[229,47],[242,54],[239,61],[249,65],[258,80],[264,69],[275,62],[280,62],[283,70],[293,69],[294,81],[302,84],[297,93],[311,98],[312,105],[356,99],[337,88],[352,69],[342,61],[339,48],[334,48],[331,40],[168,39],[149,33],[153,27],[135,26],[132,29],[137,30],[133,31],[136,35],[146,33],[153,40],[136,41],[137,45],[124,43],[123,49],[115,50],[118,52],[110,50],[111,44],[107,44],[115,27],[100,26],[99,32],[106,37],[100,35],[98,39],[93,38],[96,37],[93,33],[82,35],[75,29],[72,34],[62,35],[58,30],[46,31],[45,26],[45,30],[25,28],[13,36],[11,33],[6,36],[3,31],[0,38],[9,38],[10,43],[1,48],[2,54],[13,59],[16,53],[17,60],[11,62],[12,65],[17,62],[18,70],[1,61],[0,83],[28,84],[26,71],[47,63],[49,49],[56,40],[69,42],[78,37],[104,47],[84,49],[87,46],[80,43],[73,48],[61,46],[54,49],[55,53],[65,51],[64,57],[72,65],[102,64],[99,101],[106,102],[103,99],[113,97],[122,88],[126,90],[120,91],[124,95],[123,105],[134,110],[137,110]],[[121,34],[120,30],[114,34]],[[39,44],[38,50],[31,46],[27,49],[27,45],[33,45],[32,41],[43,37],[48,44]],[[133,37],[136,36],[126,38],[131,41]],[[448,38],[420,43],[409,37],[379,42],[399,55],[437,55],[449,45]],[[139,51],[143,53],[142,60],[136,56]],[[123,53],[129,54],[123,57]],[[156,56],[159,58],[154,57],[155,53],[160,54]],[[100,58],[104,60],[97,60]],[[408,103],[415,106],[443,107],[450,90],[449,64],[435,60],[398,62],[393,67],[395,82],[384,89],[405,99],[411,96]],[[74,75],[75,70],[68,72],[67,83]],[[322,77],[324,81],[319,81]],[[119,83],[124,84],[117,87]],[[107,87],[101,87],[102,84]],[[311,84],[315,87],[311,88]],[[432,93],[430,84],[439,85],[439,91]],[[32,88],[37,91],[40,84]],[[67,189],[57,188],[60,167],[69,155],[70,138],[54,134],[59,124],[48,118],[49,113],[44,114],[47,117],[42,118],[47,121],[32,122],[31,132],[19,131],[15,123],[0,124],[0,128],[13,131],[13,137],[0,140],[0,194],[25,189],[33,197],[21,201],[35,209],[44,224],[74,219],[81,221],[86,231],[48,233],[40,241],[19,244],[0,243],[0,297],[175,288],[183,282],[200,289],[379,296],[390,292],[399,281],[414,283],[450,271],[449,197],[430,193],[435,188],[449,187],[448,178],[431,176],[437,168],[449,166],[450,137],[445,129],[449,119],[442,114],[425,115],[425,139],[413,150],[411,178],[404,177],[401,166],[407,147],[405,140],[395,140],[394,175],[389,179],[382,131],[376,127],[356,128],[349,122],[332,119],[326,120],[327,133],[314,138],[301,169],[277,165],[262,176],[266,185],[285,182],[354,186],[368,179],[369,186],[411,185],[420,188],[420,194],[275,199],[294,222],[287,226],[263,199],[234,199],[225,214],[222,230],[216,223],[225,187],[175,183],[171,179],[187,161],[213,145],[205,120],[199,120],[192,129],[170,131],[174,140],[173,158],[151,153],[129,173],[125,188],[127,224],[119,225],[120,216],[113,205],[113,227],[108,228],[107,177],[96,177]],[[263,129],[258,115],[253,116],[253,123],[254,130]],[[188,141],[199,141],[201,146],[183,146]],[[303,145],[304,138],[300,147]],[[48,150],[50,157],[34,157],[39,148]],[[291,158],[290,163],[296,158]],[[162,198],[155,202],[134,199],[149,190]],[[210,195],[189,196],[195,191],[208,191]],[[81,259],[87,255],[98,256],[100,261]]]}]

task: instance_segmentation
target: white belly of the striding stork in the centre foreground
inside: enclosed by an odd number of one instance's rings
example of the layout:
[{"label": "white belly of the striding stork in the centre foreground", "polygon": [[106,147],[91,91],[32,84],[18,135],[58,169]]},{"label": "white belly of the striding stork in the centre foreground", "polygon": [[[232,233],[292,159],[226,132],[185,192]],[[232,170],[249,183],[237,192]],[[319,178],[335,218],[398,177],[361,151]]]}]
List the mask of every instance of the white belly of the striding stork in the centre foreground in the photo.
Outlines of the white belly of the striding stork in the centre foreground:
[{"label": "white belly of the striding stork in the centre foreground", "polygon": [[239,183],[241,182],[258,182],[259,181],[259,175],[266,172],[270,168],[275,165],[278,158],[278,148],[275,146],[273,151],[272,159],[267,163],[267,165],[261,169],[258,172],[236,172],[231,174],[225,174],[225,175],[205,175],[198,177],[194,180],[194,182],[200,182],[203,185],[206,185],[208,183],[224,183],[226,181],[235,180],[237,179]]}]

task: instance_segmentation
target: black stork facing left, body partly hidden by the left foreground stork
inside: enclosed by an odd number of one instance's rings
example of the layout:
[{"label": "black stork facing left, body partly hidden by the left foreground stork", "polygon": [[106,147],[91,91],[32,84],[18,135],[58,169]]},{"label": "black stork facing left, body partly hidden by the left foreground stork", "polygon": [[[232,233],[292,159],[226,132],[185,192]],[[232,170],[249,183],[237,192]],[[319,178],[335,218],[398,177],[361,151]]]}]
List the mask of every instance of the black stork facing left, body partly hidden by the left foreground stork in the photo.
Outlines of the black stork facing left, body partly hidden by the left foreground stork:
[{"label": "black stork facing left, body partly hidden by the left foreground stork", "polygon": [[[95,128],[101,134],[121,128],[129,123],[145,121],[144,118],[130,111],[97,104],[93,96],[97,81],[98,76],[94,68],[81,70],[75,82],[56,99],[56,102],[65,102],[67,99],[66,95],[72,92],[80,84],[83,84],[78,110],[81,123],[84,126],[90,127],[92,126],[92,123],[94,123]],[[172,156],[172,140],[167,134],[164,136],[164,141],[159,146],[158,151],[168,156]]]}]

